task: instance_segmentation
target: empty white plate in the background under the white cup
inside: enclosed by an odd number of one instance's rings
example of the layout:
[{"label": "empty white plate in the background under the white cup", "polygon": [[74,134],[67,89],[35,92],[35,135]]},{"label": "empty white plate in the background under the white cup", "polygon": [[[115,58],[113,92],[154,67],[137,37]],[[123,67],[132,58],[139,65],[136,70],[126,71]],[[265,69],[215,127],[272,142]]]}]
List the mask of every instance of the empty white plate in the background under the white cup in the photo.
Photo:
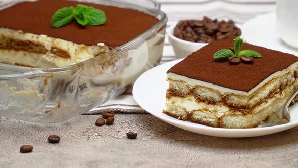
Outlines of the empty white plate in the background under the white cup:
[{"label": "empty white plate in the background under the white cup", "polygon": [[298,49],[285,44],[279,38],[275,13],[259,15],[247,21],[241,30],[247,43],[298,56]]}]

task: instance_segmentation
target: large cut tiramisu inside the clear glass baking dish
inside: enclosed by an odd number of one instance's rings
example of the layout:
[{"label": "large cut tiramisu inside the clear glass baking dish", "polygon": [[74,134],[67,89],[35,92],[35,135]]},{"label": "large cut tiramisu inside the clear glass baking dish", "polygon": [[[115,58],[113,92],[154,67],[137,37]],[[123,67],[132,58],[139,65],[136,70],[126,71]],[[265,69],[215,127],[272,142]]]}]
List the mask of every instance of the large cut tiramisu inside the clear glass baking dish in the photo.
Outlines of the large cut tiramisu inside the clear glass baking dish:
[{"label": "large cut tiramisu inside the clear glass baking dish", "polygon": [[[78,4],[105,12],[100,26],[81,26],[76,21],[55,28],[56,11]],[[73,65],[126,44],[159,20],[143,12],[67,0],[22,2],[0,9],[0,63],[39,68]]]}]

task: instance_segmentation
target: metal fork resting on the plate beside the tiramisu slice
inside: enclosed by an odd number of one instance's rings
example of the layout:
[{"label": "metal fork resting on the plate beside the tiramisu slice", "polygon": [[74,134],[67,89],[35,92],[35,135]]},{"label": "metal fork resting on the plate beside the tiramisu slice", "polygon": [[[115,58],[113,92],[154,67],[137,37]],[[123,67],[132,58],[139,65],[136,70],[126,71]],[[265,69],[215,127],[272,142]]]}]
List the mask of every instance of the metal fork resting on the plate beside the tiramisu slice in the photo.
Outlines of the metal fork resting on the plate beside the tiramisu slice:
[{"label": "metal fork resting on the plate beside the tiramisu slice", "polygon": [[291,120],[291,115],[289,112],[289,105],[291,104],[291,102],[293,101],[293,99],[296,97],[296,95],[298,94],[298,89],[296,89],[291,96],[286,100],[285,104],[283,105],[283,107],[276,112],[274,115],[276,115],[277,118],[272,119],[271,121],[259,125],[259,128],[263,128],[263,127],[272,127],[274,125],[281,125],[281,124],[285,124],[288,123]]}]

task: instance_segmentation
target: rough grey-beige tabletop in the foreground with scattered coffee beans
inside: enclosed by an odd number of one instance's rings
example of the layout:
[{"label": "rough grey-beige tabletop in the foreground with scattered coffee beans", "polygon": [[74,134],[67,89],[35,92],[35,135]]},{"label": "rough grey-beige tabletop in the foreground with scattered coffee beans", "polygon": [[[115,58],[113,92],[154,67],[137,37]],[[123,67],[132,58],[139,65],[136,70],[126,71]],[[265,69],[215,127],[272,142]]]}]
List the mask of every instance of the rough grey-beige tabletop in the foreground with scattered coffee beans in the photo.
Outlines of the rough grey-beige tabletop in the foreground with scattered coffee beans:
[{"label": "rough grey-beige tabletop in the foreground with scattered coffee beans", "polygon": [[[297,167],[298,128],[254,138],[218,138],[173,127],[150,114],[98,115],[58,124],[0,118],[0,167]],[[135,140],[125,133],[138,133]],[[49,144],[48,135],[61,136]],[[20,153],[32,144],[32,153]]]}]

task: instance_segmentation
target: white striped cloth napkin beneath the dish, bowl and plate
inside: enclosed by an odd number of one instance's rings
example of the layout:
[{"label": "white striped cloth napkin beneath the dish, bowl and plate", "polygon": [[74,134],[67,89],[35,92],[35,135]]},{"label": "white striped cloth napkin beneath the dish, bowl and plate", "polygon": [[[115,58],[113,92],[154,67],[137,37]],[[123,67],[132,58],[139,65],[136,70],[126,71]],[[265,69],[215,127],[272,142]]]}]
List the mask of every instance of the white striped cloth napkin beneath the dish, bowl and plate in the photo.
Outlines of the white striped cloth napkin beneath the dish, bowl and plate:
[{"label": "white striped cloth napkin beneath the dish, bowl and plate", "polygon": [[[245,21],[275,11],[273,0],[159,0],[161,10],[168,18],[167,27],[182,19],[201,19],[203,16],[220,20],[234,20],[241,25]],[[161,64],[177,59],[166,37]],[[133,99],[132,89],[102,106],[85,114],[99,114],[104,111],[116,113],[146,113]]]}]

